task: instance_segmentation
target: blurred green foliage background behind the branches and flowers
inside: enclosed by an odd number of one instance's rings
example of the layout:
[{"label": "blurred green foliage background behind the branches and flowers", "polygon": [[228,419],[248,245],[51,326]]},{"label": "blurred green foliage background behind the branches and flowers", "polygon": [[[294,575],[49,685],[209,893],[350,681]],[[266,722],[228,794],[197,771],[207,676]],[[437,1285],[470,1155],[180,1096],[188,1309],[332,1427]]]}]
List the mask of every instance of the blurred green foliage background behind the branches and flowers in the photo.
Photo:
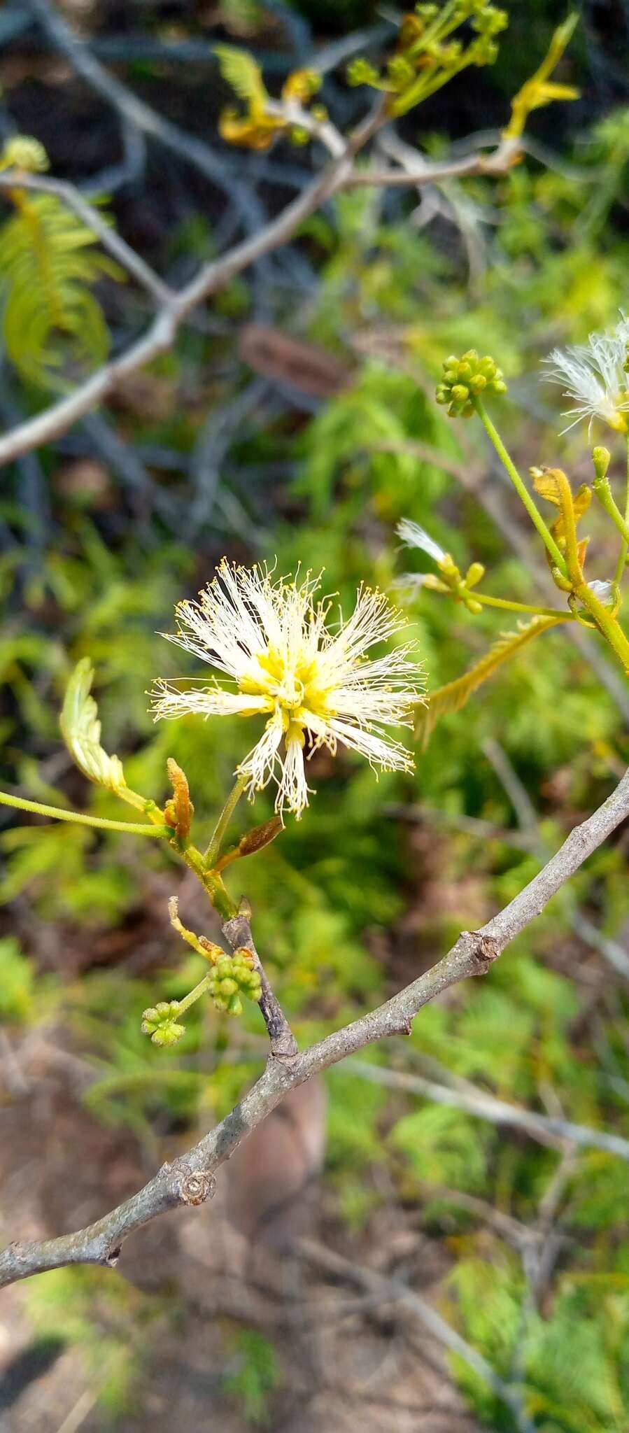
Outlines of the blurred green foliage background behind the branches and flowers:
[{"label": "blurred green foliage background behind the branches and flowers", "polygon": [[[219,142],[228,93],[209,44],[251,47],[274,92],[295,64],[324,57],[324,99],[347,129],[367,100],[344,83],[345,60],[374,57],[394,36],[393,11],[358,0],[57,6],[130,92],[202,140],[206,171],[216,162],[212,179],[186,158],[185,140],[178,153],[120,122],[54,47],[44,9],[0,11],[3,138],[36,135],[54,176],[106,195],[120,232],[172,284],[278,212],[321,158],[284,140],[268,155]],[[509,9],[496,66],[467,72],[405,116],[408,145],[440,155],[506,123],[510,96],[563,19],[550,0]],[[335,198],[203,305],[172,351],[103,410],[3,470],[4,788],[125,817],[87,790],[60,745],[64,682],[89,655],[105,744],[125,757],[129,784],[163,801],[175,755],[209,835],[249,732],[195,719],[155,728],[146,689],[183,669],[159,632],[224,553],[277,557],[279,572],[325,569],[324,586],[348,610],[361,580],[393,589],[408,565],[421,567],[395,537],[410,517],[461,566],[483,562],[487,590],[534,600],[540,559],[523,514],[483,434],[448,423],[433,387],[447,353],[471,344],[491,353],[509,378],[501,423],[523,470],[560,460],[575,481],[590,476],[585,433],[557,438],[559,390],[539,385],[539,360],[612,324],[628,302],[629,10],[620,0],[577,9],[562,79],[580,99],[532,118],[524,159],[507,176]],[[149,299],[133,285],[105,277],[97,297],[115,348],[146,325]],[[10,427],[46,396],[9,355],[1,378],[0,420]],[[603,524],[595,543],[605,576],[613,557]],[[504,628],[428,592],[408,615],[430,688]],[[556,848],[623,771],[628,712],[629,691],[595,639],[576,646],[557,633],[447,718],[413,778],[377,782],[351,757],[317,759],[302,823],[288,821],[231,880],[252,904],[258,947],[301,1043],[414,979],[530,878],[543,848]],[[262,797],[255,820],[269,814]],[[181,870],[150,843],[9,815],[0,1113],[11,1238],[24,1209],[40,1232],[95,1218],[193,1142],[261,1068],[264,1032],[255,1007],[228,1022],[195,1006],[182,1045],[153,1048],[140,1033],[143,1007],[186,993],[202,973],[168,924],[176,890],[186,920]],[[620,833],[599,851],[486,980],[450,992],[421,1013],[410,1040],[373,1048],[365,1062],[463,1092],[471,1082],[629,1138],[626,844]],[[529,1426],[625,1433],[626,1162],[388,1089],[351,1063],[330,1072],[327,1092],[318,1237],[358,1264],[377,1248],[383,1270],[420,1288],[424,1264],[434,1270],[426,1275],[434,1305],[519,1390]],[[172,1221],[159,1240],[172,1244]],[[546,1264],[533,1258],[540,1247]],[[0,1391],[7,1426],[66,1429],[79,1406],[67,1429],[132,1430],[155,1419],[171,1427],[176,1407],[163,1401],[160,1366],[171,1360],[176,1371],[176,1399],[201,1379],[186,1363],[189,1326],[201,1318],[191,1257],[179,1251],[173,1264],[163,1244],[153,1254],[149,1245],[129,1280],[83,1270],[24,1285],[7,1303],[9,1323],[19,1321]],[[345,1427],[347,1410],[317,1403],[321,1370],[304,1403],[278,1327],[262,1314],[213,1311],[192,1410],[199,1427]],[[400,1331],[378,1328],[380,1344],[397,1347]],[[374,1337],[370,1315],[358,1317],[355,1344],[368,1348]],[[62,1389],[46,1383],[60,1367]],[[352,1417],[426,1433],[523,1426],[464,1360],[448,1356],[443,1377],[458,1401],[441,1422],[426,1406],[404,1413],[408,1423],[387,1422],[394,1369],[390,1383],[383,1374],[380,1413],[365,1384],[354,1390]]]}]

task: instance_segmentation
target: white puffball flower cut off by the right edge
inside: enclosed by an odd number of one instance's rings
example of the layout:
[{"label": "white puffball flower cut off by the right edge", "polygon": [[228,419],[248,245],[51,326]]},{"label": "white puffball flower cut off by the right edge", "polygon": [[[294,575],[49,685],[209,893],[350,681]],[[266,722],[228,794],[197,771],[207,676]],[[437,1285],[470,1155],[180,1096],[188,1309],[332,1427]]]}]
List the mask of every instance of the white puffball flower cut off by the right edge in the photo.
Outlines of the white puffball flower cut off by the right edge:
[{"label": "white puffball flower cut off by the right edge", "polygon": [[563,397],[573,401],[565,413],[572,418],[565,433],[582,418],[590,427],[593,418],[602,418],[616,433],[629,431],[628,345],[629,320],[622,314],[612,332],[590,334],[586,344],[553,348],[543,360],[552,365],[544,378],[562,384]]}]

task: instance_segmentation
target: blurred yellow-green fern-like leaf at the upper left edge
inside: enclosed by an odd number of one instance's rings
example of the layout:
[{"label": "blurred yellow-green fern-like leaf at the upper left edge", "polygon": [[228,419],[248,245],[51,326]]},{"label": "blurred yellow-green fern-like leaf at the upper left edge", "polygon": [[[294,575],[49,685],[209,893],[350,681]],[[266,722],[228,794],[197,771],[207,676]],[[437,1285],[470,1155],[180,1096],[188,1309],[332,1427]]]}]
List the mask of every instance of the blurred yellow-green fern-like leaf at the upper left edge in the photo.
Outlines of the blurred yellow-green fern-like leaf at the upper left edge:
[{"label": "blurred yellow-green fern-like leaf at the upper left edge", "polygon": [[92,285],[122,279],[97,238],[56,195],[7,191],[16,214],[0,229],[0,302],[6,353],[37,387],[66,387],[109,351],[109,330]]}]

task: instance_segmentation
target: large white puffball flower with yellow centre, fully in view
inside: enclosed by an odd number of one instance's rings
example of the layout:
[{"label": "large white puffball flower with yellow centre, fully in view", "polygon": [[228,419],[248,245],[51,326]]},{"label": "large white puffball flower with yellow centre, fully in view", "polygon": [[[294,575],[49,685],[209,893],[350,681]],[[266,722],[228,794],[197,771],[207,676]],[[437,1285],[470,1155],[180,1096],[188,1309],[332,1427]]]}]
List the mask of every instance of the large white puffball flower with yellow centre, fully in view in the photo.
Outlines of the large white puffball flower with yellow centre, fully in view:
[{"label": "large white puffball flower with yellow centre, fully in view", "polygon": [[229,679],[181,691],[159,681],[152,692],[155,719],[265,715],[259,741],[238,767],[252,798],[274,781],[275,810],[301,817],[308,805],[304,748],[335,755],[337,744],[358,751],[373,768],[411,771],[411,752],[390,725],[413,727],[424,702],[414,645],[368,655],[407,625],[381,592],[358,588],[355,608],[335,631],[327,625],[330,600],[315,602],[320,579],[274,580],[268,567],[238,567],[222,559],[198,602],[176,608],[178,631],[168,635]]}]

